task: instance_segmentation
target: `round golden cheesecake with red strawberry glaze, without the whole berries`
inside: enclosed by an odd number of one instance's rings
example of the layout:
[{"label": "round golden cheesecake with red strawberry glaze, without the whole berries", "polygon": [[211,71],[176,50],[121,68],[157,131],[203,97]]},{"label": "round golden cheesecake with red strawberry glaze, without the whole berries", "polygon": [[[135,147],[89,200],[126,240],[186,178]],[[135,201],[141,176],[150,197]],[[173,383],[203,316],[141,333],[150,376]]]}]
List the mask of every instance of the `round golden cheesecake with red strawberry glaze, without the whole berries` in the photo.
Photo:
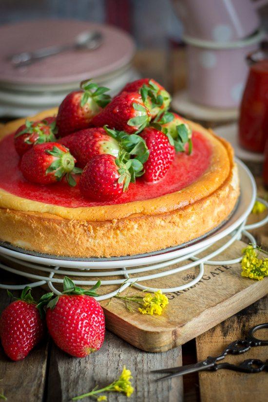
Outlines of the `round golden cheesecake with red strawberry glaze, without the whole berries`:
[{"label": "round golden cheesecake with red strawberry glaze, without the whole berries", "polygon": [[112,257],[177,246],[213,230],[236,204],[237,167],[228,142],[187,122],[191,155],[177,153],[162,180],[139,178],[114,202],[86,199],[65,180],[47,186],[25,180],[13,143],[24,119],[6,124],[0,129],[0,240],[59,256]]}]

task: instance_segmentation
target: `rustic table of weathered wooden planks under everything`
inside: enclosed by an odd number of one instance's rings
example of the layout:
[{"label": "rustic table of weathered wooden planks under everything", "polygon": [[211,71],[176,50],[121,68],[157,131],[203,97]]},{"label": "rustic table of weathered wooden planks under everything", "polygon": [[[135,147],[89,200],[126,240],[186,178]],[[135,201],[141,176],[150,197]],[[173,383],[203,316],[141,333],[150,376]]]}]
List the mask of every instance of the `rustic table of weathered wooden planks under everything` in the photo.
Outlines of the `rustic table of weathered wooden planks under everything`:
[{"label": "rustic table of weathered wooden planks under everything", "polygon": [[[185,85],[186,66],[184,51],[169,55],[159,52],[139,52],[134,59],[142,76],[154,77],[173,91]],[[168,74],[166,73],[168,72]],[[258,189],[264,189],[261,180]],[[254,233],[263,247],[268,247],[268,228]],[[0,270],[0,281],[7,284],[23,284],[23,279]],[[38,298],[42,289],[34,289]],[[18,295],[19,292],[14,292]],[[10,302],[5,290],[0,291],[0,313]],[[148,353],[131,346],[106,332],[102,348],[84,359],[72,358],[45,339],[29,356],[20,362],[11,362],[0,347],[0,389],[12,402],[67,402],[76,395],[112,382],[124,364],[131,369],[135,392],[130,401],[149,400],[163,402],[181,401],[267,401],[268,374],[243,374],[228,370],[190,374],[184,378],[156,383],[149,372],[165,366],[191,364],[214,355],[232,340],[243,337],[247,330],[258,323],[268,322],[268,297],[259,300],[220,325],[200,335],[182,347],[164,353]],[[263,334],[265,336],[265,334]],[[266,333],[267,337],[267,333]],[[253,348],[247,358],[268,359],[268,346]],[[244,360],[244,358],[242,359]],[[228,361],[241,361],[231,356]],[[87,399],[89,400],[89,399]],[[120,394],[109,395],[109,401],[125,401]]]}]

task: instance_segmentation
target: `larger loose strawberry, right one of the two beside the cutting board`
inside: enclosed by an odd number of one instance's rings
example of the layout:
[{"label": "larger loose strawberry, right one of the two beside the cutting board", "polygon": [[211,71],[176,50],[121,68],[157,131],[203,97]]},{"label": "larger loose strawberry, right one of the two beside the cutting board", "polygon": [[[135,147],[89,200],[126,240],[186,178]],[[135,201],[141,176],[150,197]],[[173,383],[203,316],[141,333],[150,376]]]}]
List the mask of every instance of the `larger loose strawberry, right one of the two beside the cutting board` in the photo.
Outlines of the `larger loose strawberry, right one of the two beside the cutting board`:
[{"label": "larger loose strawberry, right one of the two beside the cutting board", "polygon": [[98,350],[104,341],[105,320],[100,304],[94,299],[100,281],[89,290],[75,286],[64,277],[63,292],[47,305],[48,331],[56,345],[75,357],[85,357]]}]

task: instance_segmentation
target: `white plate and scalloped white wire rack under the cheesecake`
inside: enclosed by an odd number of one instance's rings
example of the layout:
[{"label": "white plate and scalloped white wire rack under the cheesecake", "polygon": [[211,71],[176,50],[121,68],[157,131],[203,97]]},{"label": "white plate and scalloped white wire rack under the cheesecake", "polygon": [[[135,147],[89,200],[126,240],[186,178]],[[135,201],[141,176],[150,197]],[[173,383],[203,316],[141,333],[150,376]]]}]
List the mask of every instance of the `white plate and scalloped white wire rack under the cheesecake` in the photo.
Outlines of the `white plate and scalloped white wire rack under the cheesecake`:
[{"label": "white plate and scalloped white wire rack under the cheesecake", "polygon": [[[47,284],[48,287],[55,293],[60,294],[60,291],[55,287],[63,283],[63,276],[79,276],[81,280],[74,280],[76,285],[93,286],[96,283],[96,278],[101,280],[101,287],[107,285],[118,285],[114,291],[102,294],[96,297],[97,300],[105,300],[115,296],[118,292],[122,292],[129,286],[136,287],[141,290],[154,292],[157,287],[148,287],[141,285],[144,281],[151,281],[164,276],[171,276],[177,272],[182,272],[191,268],[199,268],[198,274],[188,283],[179,286],[162,288],[163,293],[175,292],[186,289],[196,284],[204,274],[204,265],[231,265],[239,263],[242,256],[232,260],[214,260],[214,257],[228,249],[233,242],[240,240],[242,235],[246,236],[249,243],[256,245],[256,240],[248,230],[259,228],[268,223],[268,214],[261,221],[247,225],[247,218],[252,210],[255,200],[259,200],[268,208],[268,202],[256,198],[256,185],[254,179],[243,163],[237,161],[241,182],[241,197],[240,203],[236,212],[232,215],[225,226],[217,230],[210,236],[199,240],[197,243],[190,244],[187,247],[165,250],[163,253],[156,255],[147,254],[137,256],[131,259],[95,259],[90,261],[74,261],[74,260],[59,260],[56,258],[47,258],[43,256],[30,255],[23,252],[15,251],[5,247],[0,247],[0,255],[5,260],[10,261],[11,265],[19,264],[19,269],[12,268],[7,263],[0,263],[0,268],[28,278],[30,281],[27,286],[38,287]],[[249,195],[250,194],[250,195]],[[217,249],[210,250],[211,245],[217,244],[221,240],[221,244]],[[223,243],[224,240],[224,243]],[[200,254],[202,253],[202,256]],[[188,261],[186,261],[188,260]],[[177,264],[186,264],[177,266]],[[190,261],[190,262],[189,262]],[[163,268],[171,267],[168,270]],[[23,269],[25,268],[25,270]],[[30,272],[29,272],[30,269]],[[95,269],[95,270],[94,270]],[[36,272],[34,272],[36,270]],[[96,271],[97,270],[97,271]],[[157,272],[150,272],[155,271]],[[33,273],[34,272],[34,273]],[[62,275],[61,278],[55,277],[55,274]],[[117,277],[109,279],[109,277]],[[104,279],[103,279],[104,278]],[[171,284],[173,280],[171,277]],[[22,289],[26,285],[5,285],[0,284],[2,289]]]}]

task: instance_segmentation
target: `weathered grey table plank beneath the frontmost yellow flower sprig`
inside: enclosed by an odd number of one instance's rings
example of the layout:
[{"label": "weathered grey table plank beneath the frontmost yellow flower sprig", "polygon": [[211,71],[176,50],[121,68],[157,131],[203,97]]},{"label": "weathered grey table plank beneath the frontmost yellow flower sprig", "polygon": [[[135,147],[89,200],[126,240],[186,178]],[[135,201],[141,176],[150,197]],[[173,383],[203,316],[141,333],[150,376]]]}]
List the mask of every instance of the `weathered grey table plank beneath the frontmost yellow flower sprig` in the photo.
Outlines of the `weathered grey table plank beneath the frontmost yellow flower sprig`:
[{"label": "weathered grey table plank beneath the frontmost yellow flower sprig", "polygon": [[[66,402],[72,397],[112,383],[126,365],[134,377],[135,392],[132,402],[181,402],[182,378],[156,383],[159,374],[150,374],[156,368],[181,365],[181,347],[164,353],[147,353],[128,345],[109,331],[101,349],[92,355],[72,358],[53,345],[48,374],[47,402]],[[121,394],[106,394],[109,402],[124,402]]]}]

